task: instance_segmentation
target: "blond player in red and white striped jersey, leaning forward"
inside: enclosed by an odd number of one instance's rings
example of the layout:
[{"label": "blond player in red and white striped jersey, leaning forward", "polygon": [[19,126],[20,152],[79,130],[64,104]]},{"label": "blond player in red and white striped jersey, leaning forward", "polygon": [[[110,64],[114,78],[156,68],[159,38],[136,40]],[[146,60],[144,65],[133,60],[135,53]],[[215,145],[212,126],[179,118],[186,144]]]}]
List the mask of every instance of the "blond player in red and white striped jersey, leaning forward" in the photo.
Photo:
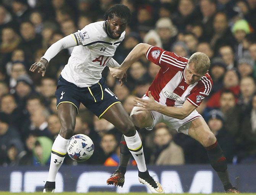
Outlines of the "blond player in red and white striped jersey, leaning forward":
[{"label": "blond player in red and white striped jersey, leaning forward", "polygon": [[[110,69],[111,74],[122,79],[131,64],[143,55],[160,66],[160,70],[143,98],[134,100],[136,103],[130,116],[134,125],[138,129],[145,127],[151,130],[157,123],[164,122],[177,132],[198,140],[206,148],[211,165],[220,177],[225,192],[239,193],[230,183],[226,158],[216,137],[201,114],[195,110],[212,89],[212,79],[208,73],[210,60],[207,55],[196,52],[188,59],[159,47],[138,44],[120,67]],[[124,139],[120,152],[119,167],[109,180],[118,173],[118,177],[123,177],[118,179],[124,182],[130,158]]]}]

